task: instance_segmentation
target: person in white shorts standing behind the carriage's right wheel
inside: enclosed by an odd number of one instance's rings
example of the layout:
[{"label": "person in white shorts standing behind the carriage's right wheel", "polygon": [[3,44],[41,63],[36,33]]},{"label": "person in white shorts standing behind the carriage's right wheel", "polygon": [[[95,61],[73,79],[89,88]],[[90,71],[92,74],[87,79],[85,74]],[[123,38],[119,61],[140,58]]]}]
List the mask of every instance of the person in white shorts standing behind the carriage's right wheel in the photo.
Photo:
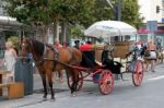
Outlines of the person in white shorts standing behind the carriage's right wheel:
[{"label": "person in white shorts standing behind the carriage's right wheel", "polygon": [[148,52],[149,52],[149,57],[147,57],[147,65],[145,65],[145,71],[148,71],[149,69],[149,64],[151,62],[151,71],[152,72],[155,72],[155,65],[156,65],[156,59],[157,59],[157,56],[156,56],[156,46],[154,45],[153,40],[150,40],[149,44],[148,44]]}]

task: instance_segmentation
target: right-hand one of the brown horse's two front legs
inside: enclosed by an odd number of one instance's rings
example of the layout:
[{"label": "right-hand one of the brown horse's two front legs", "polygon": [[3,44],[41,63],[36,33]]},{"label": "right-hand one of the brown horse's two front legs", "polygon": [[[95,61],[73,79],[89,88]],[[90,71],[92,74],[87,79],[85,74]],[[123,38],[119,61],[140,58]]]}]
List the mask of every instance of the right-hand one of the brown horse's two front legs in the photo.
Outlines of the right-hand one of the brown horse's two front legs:
[{"label": "right-hand one of the brown horse's two front legs", "polygon": [[49,84],[49,87],[50,87],[51,99],[55,99],[55,93],[54,93],[54,89],[52,89],[52,71],[50,71],[50,70],[47,71],[47,77],[48,77],[48,84]]}]

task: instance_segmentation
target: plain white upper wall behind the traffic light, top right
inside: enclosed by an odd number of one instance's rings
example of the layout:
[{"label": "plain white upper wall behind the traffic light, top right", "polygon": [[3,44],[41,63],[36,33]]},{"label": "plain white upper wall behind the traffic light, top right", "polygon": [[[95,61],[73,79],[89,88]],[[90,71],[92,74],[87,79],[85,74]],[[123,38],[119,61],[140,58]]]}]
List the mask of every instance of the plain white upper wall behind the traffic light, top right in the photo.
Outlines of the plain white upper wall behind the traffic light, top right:
[{"label": "plain white upper wall behind the traffic light, top right", "polygon": [[162,0],[139,0],[140,13],[144,17],[144,23],[147,21],[157,21],[162,22],[162,10],[156,13],[156,5],[162,9]]}]

